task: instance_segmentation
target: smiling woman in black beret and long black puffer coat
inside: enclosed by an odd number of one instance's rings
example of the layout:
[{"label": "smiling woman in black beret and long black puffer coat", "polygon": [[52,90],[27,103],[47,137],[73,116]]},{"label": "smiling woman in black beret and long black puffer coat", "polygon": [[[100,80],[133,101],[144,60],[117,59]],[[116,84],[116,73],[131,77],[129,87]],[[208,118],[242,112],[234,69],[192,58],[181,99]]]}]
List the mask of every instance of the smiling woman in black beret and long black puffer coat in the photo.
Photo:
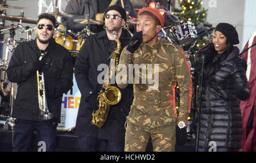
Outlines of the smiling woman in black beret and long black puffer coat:
[{"label": "smiling woman in black beret and long black puffer coat", "polygon": [[[199,152],[228,152],[241,148],[240,100],[250,96],[246,62],[239,55],[238,33],[233,25],[217,25],[213,43],[205,50],[201,99]],[[199,72],[201,74],[201,72]],[[200,78],[199,78],[200,79]]]}]

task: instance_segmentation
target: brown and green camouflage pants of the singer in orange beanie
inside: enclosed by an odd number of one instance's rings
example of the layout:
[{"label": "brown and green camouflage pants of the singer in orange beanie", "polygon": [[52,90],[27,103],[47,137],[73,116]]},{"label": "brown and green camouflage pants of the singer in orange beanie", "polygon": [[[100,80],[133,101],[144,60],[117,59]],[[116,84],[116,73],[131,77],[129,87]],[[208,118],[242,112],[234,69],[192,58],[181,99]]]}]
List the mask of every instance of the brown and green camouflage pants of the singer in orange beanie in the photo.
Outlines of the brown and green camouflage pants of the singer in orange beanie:
[{"label": "brown and green camouflage pants of the singer in orange beanie", "polygon": [[[176,144],[176,119],[174,109],[158,108],[156,114],[150,109],[132,105],[125,133],[125,152],[143,152],[151,137],[154,152],[174,152]],[[149,111],[145,111],[149,110]],[[147,112],[147,113],[145,113]]]}]

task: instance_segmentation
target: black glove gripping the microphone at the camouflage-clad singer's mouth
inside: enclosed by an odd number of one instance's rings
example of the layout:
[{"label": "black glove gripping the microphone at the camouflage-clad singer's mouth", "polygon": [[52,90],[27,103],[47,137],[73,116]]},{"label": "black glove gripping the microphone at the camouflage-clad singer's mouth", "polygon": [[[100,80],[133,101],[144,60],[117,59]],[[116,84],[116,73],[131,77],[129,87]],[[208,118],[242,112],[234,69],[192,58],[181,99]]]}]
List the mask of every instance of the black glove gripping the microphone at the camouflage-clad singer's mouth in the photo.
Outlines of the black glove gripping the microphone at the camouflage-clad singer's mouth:
[{"label": "black glove gripping the microphone at the camouflage-clad singer's mouth", "polygon": [[127,51],[130,53],[134,53],[135,50],[139,48],[139,45],[141,45],[142,42],[142,31],[134,33],[133,37],[131,37],[129,41],[129,45],[127,46]]}]

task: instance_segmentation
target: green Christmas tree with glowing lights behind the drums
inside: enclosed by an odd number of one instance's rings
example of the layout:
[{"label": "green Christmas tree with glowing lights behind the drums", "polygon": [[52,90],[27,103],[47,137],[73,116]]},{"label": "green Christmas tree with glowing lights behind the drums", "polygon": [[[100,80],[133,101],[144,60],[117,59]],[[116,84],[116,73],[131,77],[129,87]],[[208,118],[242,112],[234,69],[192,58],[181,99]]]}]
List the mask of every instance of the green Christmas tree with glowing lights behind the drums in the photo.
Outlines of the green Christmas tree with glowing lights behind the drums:
[{"label": "green Christmas tree with glowing lights behind the drums", "polygon": [[180,14],[176,14],[176,16],[182,22],[192,22],[197,25],[200,23],[204,23],[207,18],[207,10],[202,7],[203,1],[199,0],[179,0],[179,7],[181,9],[174,9],[175,12],[179,12]]}]

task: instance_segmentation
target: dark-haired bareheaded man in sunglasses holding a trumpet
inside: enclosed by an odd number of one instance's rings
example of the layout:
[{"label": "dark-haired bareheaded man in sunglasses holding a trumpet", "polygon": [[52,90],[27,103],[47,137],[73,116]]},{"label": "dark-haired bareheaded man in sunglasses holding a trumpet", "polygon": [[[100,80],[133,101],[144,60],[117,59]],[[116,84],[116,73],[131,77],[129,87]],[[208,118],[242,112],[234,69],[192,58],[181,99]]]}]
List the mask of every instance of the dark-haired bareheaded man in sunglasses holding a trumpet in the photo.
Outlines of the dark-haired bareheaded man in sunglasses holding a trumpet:
[{"label": "dark-haired bareheaded man in sunglasses holding a trumpet", "polygon": [[18,83],[13,151],[30,151],[34,130],[45,145],[43,151],[53,151],[62,96],[73,85],[72,57],[52,38],[55,27],[54,16],[39,15],[36,39],[20,43],[7,68],[9,81]]}]

